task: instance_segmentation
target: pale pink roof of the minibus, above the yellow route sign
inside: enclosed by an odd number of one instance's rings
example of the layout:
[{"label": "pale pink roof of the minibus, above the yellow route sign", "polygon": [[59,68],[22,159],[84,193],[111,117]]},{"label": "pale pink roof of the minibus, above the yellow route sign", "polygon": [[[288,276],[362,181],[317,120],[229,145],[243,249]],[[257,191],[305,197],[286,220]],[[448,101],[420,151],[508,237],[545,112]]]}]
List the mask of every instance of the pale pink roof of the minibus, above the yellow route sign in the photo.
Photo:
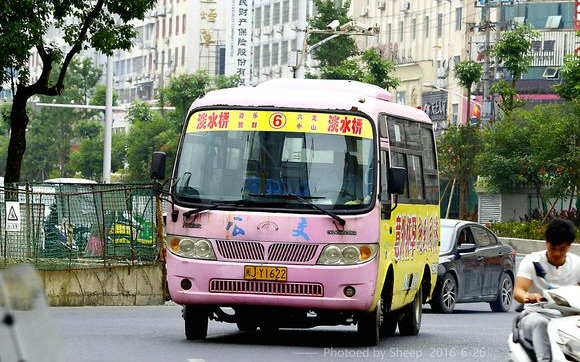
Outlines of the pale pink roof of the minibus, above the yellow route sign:
[{"label": "pale pink roof of the minibus, above the yellow route sign", "polygon": [[391,93],[378,86],[352,80],[280,78],[255,87],[211,91],[193,102],[190,110],[205,106],[359,110],[373,117],[384,112],[431,123],[422,110],[391,99]]}]

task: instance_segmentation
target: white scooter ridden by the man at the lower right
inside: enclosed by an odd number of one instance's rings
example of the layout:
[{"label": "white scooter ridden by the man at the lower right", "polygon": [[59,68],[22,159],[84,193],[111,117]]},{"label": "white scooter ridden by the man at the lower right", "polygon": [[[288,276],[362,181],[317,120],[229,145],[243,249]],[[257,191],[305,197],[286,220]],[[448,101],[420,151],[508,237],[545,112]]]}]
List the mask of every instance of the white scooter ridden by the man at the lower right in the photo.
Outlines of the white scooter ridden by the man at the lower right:
[{"label": "white scooter ridden by the man at the lower right", "polygon": [[[548,337],[553,362],[580,362],[580,286],[545,289],[544,302],[534,303],[535,312],[547,315]],[[516,317],[508,337],[509,357],[514,362],[536,360],[534,348],[520,333],[521,320],[529,313],[524,310]]]}]

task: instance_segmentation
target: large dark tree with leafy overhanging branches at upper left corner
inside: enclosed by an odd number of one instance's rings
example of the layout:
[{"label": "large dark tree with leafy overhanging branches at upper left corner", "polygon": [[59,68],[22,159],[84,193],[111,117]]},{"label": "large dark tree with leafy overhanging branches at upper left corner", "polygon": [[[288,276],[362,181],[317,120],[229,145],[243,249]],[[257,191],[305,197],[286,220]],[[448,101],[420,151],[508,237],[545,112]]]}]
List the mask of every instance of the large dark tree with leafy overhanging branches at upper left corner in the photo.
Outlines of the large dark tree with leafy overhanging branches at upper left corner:
[{"label": "large dark tree with leafy overhanging branches at upper left corner", "polygon": [[[10,82],[13,103],[5,182],[20,179],[30,121],[26,103],[36,95],[58,96],[65,88],[71,61],[82,49],[92,47],[106,55],[132,46],[135,30],[130,21],[143,19],[156,0],[3,0],[0,6],[0,84]],[[65,46],[47,43],[54,27],[63,34]],[[36,49],[42,62],[40,77],[30,79],[28,60]],[[59,69],[55,82],[53,69]]]}]

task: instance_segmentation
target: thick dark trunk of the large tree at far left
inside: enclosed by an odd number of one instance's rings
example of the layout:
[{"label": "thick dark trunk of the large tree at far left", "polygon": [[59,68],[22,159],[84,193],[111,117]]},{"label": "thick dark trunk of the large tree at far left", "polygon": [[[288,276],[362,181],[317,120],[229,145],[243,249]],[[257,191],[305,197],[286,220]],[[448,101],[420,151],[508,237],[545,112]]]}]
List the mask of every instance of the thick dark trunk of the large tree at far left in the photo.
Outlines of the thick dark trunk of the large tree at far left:
[{"label": "thick dark trunk of the large tree at far left", "polygon": [[26,127],[30,120],[28,113],[26,113],[26,102],[29,98],[29,89],[18,87],[10,112],[10,142],[8,143],[6,176],[4,178],[4,182],[7,184],[20,181],[22,158],[24,151],[26,151]]}]

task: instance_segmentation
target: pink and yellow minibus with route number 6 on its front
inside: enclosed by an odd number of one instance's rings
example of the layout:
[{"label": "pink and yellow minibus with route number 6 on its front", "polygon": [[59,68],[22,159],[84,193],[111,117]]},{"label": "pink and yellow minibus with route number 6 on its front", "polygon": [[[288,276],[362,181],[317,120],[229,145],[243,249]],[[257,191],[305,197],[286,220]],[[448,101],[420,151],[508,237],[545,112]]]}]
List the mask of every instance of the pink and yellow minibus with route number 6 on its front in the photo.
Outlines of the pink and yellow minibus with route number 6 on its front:
[{"label": "pink and yellow minibus with route number 6 on its front", "polygon": [[354,81],[213,91],[189,110],[171,185],[167,283],[187,339],[205,339],[210,319],[353,324],[364,345],[419,332],[439,254],[424,112]]}]

